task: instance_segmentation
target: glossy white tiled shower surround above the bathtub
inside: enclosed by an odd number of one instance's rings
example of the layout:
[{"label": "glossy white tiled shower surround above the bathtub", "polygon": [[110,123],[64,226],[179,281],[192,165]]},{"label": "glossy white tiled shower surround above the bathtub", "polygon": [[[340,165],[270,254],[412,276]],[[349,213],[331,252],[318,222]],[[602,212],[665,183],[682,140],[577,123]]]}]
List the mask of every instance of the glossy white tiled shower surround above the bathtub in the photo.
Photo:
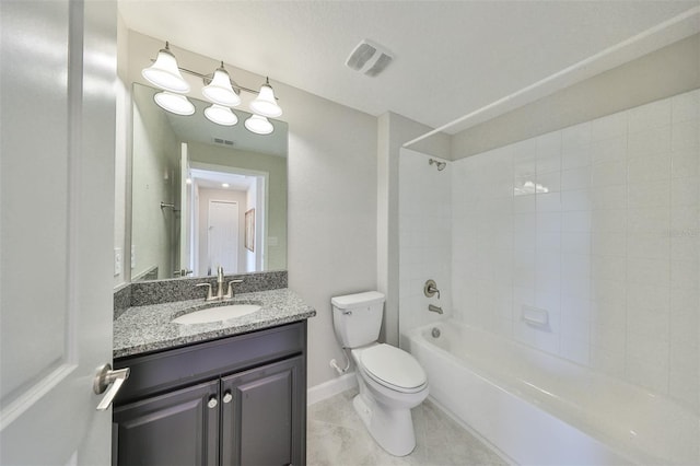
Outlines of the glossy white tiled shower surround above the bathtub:
[{"label": "glossy white tiled shower surround above the bathtub", "polygon": [[699,108],[693,91],[442,172],[402,152],[401,330],[440,304],[699,410]]}]

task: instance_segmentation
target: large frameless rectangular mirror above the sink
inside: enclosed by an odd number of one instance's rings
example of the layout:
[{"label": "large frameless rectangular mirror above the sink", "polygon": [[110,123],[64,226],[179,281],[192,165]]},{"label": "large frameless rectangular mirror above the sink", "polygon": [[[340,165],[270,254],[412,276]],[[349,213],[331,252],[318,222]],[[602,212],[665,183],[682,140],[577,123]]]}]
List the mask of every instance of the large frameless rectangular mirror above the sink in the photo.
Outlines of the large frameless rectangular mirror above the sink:
[{"label": "large frameless rectangular mirror above the sink", "polygon": [[131,281],[287,268],[287,124],[270,135],[158,106],[133,84]]}]

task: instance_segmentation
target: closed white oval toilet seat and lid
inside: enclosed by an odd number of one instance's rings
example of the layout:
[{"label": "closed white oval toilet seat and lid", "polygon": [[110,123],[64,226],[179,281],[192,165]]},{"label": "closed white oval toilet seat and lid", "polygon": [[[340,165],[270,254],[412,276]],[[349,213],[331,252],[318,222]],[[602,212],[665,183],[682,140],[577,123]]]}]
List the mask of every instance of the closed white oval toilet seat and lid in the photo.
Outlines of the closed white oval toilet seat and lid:
[{"label": "closed white oval toilet seat and lid", "polygon": [[416,359],[390,345],[380,343],[360,354],[364,372],[376,383],[396,392],[416,393],[424,388],[428,377]]}]

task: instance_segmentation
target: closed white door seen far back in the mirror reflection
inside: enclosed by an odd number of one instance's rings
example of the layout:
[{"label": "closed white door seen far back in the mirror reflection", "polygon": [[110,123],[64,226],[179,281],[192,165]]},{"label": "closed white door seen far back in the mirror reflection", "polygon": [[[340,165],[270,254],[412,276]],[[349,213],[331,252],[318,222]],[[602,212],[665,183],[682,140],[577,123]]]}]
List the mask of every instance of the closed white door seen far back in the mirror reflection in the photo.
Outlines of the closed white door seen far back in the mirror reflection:
[{"label": "closed white door seen far back in the mirror reflection", "polygon": [[238,202],[209,201],[209,265],[226,273],[238,271]]}]

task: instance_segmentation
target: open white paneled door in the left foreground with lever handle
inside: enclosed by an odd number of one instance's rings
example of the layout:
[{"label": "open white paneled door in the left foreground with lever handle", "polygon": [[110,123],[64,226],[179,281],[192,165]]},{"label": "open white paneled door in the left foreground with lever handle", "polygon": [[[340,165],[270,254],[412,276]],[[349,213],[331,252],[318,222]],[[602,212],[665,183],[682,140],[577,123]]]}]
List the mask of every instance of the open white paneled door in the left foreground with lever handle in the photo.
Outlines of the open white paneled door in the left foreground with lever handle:
[{"label": "open white paneled door in the left foreground with lever handle", "polygon": [[116,5],[2,0],[0,25],[0,464],[109,464]]}]

